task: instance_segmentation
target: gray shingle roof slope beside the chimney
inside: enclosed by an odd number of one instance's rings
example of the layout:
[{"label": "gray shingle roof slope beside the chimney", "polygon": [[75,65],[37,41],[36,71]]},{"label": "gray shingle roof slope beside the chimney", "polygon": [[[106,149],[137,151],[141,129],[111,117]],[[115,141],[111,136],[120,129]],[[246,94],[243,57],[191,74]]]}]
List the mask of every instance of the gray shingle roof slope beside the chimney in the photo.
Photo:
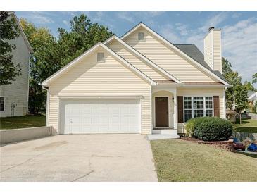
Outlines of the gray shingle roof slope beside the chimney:
[{"label": "gray shingle roof slope beside the chimney", "polygon": [[[218,71],[218,70],[212,70],[210,66],[204,61],[204,55],[201,53],[201,51],[196,47],[194,44],[173,44],[178,49],[183,51],[185,54],[193,58],[195,61],[200,63],[203,67],[207,68],[211,72],[213,72],[215,75],[220,77],[222,80],[227,82],[225,77]],[[228,82],[227,82],[228,83]]]}]

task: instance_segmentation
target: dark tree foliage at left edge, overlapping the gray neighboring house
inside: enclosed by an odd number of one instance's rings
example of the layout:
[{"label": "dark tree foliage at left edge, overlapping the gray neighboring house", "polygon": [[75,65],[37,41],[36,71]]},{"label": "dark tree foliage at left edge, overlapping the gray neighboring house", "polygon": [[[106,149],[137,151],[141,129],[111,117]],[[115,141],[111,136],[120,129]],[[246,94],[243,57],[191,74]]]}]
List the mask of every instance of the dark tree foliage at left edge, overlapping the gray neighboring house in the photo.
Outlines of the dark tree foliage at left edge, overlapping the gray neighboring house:
[{"label": "dark tree foliage at left edge, overlapping the gray neighboring house", "polygon": [[0,85],[11,85],[21,75],[20,64],[14,64],[11,52],[15,44],[11,40],[20,36],[20,30],[13,18],[8,19],[8,12],[0,11]]}]

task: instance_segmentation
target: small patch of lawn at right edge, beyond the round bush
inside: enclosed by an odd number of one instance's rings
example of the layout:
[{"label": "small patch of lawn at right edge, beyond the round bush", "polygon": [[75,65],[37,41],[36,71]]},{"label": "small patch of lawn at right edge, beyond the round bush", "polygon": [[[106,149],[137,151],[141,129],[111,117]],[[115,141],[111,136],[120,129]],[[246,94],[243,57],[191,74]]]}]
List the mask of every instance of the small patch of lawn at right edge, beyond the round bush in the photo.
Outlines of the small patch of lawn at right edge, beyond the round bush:
[{"label": "small patch of lawn at right edge, beyond the round bush", "polygon": [[238,132],[257,133],[257,120],[254,120],[254,119],[242,120],[242,124],[239,124],[239,120],[237,120],[236,124],[234,124],[234,130]]}]

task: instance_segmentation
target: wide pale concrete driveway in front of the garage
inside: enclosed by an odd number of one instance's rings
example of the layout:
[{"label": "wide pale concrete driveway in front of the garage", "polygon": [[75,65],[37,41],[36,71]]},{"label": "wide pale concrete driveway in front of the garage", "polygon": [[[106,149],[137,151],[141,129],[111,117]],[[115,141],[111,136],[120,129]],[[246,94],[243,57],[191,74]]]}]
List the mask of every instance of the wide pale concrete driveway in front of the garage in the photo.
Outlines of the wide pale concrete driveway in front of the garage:
[{"label": "wide pale concrete driveway in front of the garage", "polygon": [[1,150],[1,181],[157,181],[144,135],[55,135]]}]

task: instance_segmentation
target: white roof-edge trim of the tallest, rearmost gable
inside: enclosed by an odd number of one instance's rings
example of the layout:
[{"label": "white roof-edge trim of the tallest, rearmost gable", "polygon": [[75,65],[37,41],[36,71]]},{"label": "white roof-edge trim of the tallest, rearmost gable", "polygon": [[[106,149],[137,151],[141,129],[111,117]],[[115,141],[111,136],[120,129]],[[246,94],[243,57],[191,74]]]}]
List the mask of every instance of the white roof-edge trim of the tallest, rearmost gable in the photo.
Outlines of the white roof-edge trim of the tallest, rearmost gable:
[{"label": "white roof-edge trim of the tallest, rearmost gable", "polygon": [[201,63],[199,63],[199,61],[196,61],[194,58],[192,58],[191,56],[188,55],[188,53],[185,53],[184,51],[182,51],[181,49],[179,49],[177,46],[175,46],[174,44],[172,44],[171,42],[169,42],[167,39],[165,39],[164,37],[162,37],[161,35],[159,35],[157,32],[153,31],[150,27],[146,26],[144,23],[140,22],[138,25],[134,26],[130,31],[128,31],[127,33],[125,33],[123,36],[120,37],[120,39],[125,39],[126,37],[128,37],[130,34],[132,34],[132,32],[134,32],[135,30],[137,30],[139,27],[143,27],[145,30],[147,30],[148,32],[151,33],[151,35],[153,35],[154,37],[156,37],[157,39],[161,40],[161,42],[165,43],[167,46],[169,46],[171,49],[177,51],[177,53],[181,54],[182,56],[184,56],[184,58],[187,58],[189,61],[191,61],[192,63],[194,63],[194,65],[198,66],[199,68],[201,68],[201,70],[203,70],[204,72],[206,72],[209,76],[214,77],[216,80],[219,80],[220,82],[222,82],[224,85],[229,86],[230,84],[223,80],[217,73],[214,72],[214,70],[210,70],[210,68],[206,68],[206,66],[203,66]]}]

